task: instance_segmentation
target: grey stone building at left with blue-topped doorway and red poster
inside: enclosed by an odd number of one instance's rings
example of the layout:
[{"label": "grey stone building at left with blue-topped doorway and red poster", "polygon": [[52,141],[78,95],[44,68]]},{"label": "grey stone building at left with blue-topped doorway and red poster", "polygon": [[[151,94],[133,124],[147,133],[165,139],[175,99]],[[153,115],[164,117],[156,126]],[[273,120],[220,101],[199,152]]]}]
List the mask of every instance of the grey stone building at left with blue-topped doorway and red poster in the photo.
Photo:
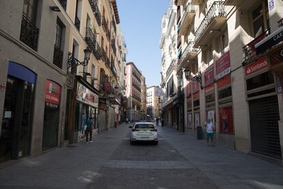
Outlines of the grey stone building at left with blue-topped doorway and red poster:
[{"label": "grey stone building at left with blue-topped doorway and red poster", "polygon": [[3,1],[0,162],[60,146],[70,27],[58,1]]}]

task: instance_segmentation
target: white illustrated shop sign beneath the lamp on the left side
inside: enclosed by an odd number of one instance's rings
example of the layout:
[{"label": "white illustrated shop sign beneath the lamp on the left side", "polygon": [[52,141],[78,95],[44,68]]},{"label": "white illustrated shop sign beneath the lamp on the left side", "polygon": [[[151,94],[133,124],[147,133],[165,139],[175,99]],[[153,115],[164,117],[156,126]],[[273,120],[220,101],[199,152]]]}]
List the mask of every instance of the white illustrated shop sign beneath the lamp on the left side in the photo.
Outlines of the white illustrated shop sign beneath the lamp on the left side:
[{"label": "white illustrated shop sign beneath the lamp on the left side", "polygon": [[94,92],[92,92],[80,83],[78,83],[77,86],[77,100],[88,105],[92,105],[95,108],[98,108],[98,95],[94,94]]}]

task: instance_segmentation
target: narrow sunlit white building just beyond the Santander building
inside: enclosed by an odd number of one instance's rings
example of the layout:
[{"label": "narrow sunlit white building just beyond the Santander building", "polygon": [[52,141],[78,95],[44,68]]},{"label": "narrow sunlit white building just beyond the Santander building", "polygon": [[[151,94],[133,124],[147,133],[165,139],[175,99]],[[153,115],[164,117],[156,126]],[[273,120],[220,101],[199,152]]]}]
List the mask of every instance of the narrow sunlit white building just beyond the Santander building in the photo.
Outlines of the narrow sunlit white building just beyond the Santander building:
[{"label": "narrow sunlit white building just beyond the Santander building", "polygon": [[178,25],[177,6],[170,1],[170,8],[164,14],[161,23],[161,40],[159,47],[162,51],[161,88],[165,90],[162,101],[163,120],[166,126],[185,131],[184,124],[184,99],[183,88],[178,88],[177,75],[178,47],[180,37],[177,34]]}]

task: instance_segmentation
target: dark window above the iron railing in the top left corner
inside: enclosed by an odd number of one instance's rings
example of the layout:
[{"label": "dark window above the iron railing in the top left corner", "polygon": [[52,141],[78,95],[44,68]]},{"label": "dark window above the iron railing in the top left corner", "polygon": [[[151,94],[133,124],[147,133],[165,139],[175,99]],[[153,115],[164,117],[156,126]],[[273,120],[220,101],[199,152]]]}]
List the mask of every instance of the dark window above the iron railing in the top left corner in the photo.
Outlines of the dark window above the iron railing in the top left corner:
[{"label": "dark window above the iron railing in the top left corner", "polygon": [[32,23],[36,23],[38,0],[25,0],[23,5],[23,14]]}]

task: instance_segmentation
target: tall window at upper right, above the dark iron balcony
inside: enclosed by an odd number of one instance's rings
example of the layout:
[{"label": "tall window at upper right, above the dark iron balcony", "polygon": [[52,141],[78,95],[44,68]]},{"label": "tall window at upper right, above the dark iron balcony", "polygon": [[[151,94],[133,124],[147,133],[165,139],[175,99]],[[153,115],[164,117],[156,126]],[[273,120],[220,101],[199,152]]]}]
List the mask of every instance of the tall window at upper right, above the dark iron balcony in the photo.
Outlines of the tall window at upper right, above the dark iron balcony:
[{"label": "tall window at upper right, above the dark iron balcony", "polygon": [[260,36],[269,26],[269,12],[267,0],[260,3],[258,7],[252,11],[252,26],[254,29],[254,38]]}]

